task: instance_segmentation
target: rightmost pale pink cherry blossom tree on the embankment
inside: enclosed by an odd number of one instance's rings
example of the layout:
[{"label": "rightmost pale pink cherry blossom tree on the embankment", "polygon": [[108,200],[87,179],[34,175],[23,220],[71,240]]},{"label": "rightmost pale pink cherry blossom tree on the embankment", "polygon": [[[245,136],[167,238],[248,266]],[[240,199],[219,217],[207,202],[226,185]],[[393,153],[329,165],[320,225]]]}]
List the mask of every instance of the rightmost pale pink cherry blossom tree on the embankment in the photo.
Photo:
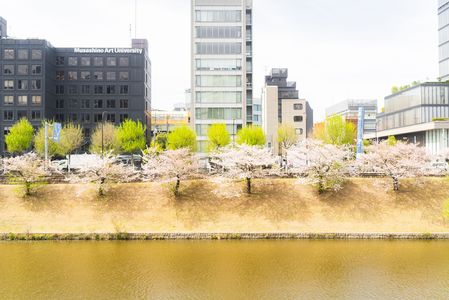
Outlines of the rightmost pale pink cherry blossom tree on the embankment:
[{"label": "rightmost pale pink cherry blossom tree on the embankment", "polygon": [[357,166],[362,172],[375,172],[390,177],[393,189],[398,191],[400,179],[426,174],[427,161],[426,151],[422,147],[403,142],[390,145],[383,141],[367,147],[366,153],[357,161]]}]

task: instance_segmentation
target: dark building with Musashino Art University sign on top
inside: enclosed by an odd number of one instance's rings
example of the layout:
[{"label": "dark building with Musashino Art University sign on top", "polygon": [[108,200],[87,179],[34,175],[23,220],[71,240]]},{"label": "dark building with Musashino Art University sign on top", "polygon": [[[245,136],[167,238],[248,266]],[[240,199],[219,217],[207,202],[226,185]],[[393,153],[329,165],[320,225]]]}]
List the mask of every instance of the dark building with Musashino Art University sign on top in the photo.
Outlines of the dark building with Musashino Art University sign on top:
[{"label": "dark building with Musashino Art University sign on top", "polygon": [[45,40],[10,39],[0,18],[0,153],[17,120],[81,124],[86,138],[105,121],[140,120],[151,130],[148,42],[131,48],[55,48]]}]

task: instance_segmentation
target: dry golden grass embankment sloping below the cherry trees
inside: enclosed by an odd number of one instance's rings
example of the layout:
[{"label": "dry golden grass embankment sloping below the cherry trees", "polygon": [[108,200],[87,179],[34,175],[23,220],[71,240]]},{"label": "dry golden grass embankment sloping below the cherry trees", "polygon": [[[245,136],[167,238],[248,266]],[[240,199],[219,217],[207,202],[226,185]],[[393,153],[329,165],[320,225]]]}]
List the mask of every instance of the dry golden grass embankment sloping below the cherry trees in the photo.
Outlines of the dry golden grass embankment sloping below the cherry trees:
[{"label": "dry golden grass embankment sloping below the cherry trees", "polygon": [[446,179],[404,181],[400,192],[385,183],[352,179],[338,193],[318,195],[293,179],[257,180],[246,195],[241,182],[191,181],[177,199],[160,183],[117,185],[100,199],[94,185],[47,185],[28,198],[0,185],[0,232],[449,232]]}]

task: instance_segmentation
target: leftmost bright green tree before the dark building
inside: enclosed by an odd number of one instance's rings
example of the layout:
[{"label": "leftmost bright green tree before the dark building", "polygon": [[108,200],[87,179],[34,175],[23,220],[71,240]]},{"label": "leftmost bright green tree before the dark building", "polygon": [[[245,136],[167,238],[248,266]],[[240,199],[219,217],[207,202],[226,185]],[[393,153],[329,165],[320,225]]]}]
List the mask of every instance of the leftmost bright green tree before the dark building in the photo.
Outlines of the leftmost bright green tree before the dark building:
[{"label": "leftmost bright green tree before the dark building", "polygon": [[23,153],[33,143],[33,126],[26,118],[20,119],[9,130],[5,137],[6,149],[9,153]]}]

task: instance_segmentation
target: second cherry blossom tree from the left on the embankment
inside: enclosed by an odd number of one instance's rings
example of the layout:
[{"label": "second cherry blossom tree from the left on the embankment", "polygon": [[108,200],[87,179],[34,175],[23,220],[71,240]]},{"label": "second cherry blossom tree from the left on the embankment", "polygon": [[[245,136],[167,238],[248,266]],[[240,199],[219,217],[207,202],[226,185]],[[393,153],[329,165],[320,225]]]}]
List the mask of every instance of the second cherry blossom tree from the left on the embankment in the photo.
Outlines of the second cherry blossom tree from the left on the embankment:
[{"label": "second cherry blossom tree from the left on the embankment", "polygon": [[86,155],[84,163],[80,164],[78,176],[72,176],[70,181],[95,183],[98,185],[98,195],[105,196],[109,184],[132,182],[137,178],[138,173],[132,166],[120,163],[114,156],[107,154],[103,158],[98,155]]}]

